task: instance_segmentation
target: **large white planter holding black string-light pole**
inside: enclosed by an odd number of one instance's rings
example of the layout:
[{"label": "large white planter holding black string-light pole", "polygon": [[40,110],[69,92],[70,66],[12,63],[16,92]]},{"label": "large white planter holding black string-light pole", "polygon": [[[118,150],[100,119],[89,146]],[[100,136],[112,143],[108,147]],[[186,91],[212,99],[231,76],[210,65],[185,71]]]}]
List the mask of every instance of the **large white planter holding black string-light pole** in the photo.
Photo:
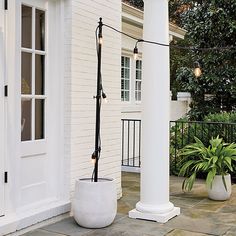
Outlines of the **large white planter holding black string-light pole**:
[{"label": "large white planter holding black string-light pole", "polygon": [[102,99],[106,98],[101,80],[101,49],[102,49],[102,18],[96,29],[97,42],[97,94],[95,150],[92,154],[94,170],[91,178],[76,180],[75,197],[73,201],[73,216],[75,221],[86,228],[103,228],[110,225],[117,212],[117,192],[115,181],[110,178],[98,177],[98,162],[101,153],[100,141],[100,111]]}]

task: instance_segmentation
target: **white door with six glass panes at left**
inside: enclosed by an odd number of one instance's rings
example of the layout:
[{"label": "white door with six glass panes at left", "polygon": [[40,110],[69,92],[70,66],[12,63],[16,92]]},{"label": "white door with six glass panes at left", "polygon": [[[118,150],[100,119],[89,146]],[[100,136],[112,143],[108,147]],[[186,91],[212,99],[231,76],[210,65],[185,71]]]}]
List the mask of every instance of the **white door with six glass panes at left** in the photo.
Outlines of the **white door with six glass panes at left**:
[{"label": "white door with six glass panes at left", "polygon": [[58,196],[60,171],[60,81],[58,72],[56,4],[51,0],[22,0],[19,13],[21,135],[18,206],[38,204]]}]

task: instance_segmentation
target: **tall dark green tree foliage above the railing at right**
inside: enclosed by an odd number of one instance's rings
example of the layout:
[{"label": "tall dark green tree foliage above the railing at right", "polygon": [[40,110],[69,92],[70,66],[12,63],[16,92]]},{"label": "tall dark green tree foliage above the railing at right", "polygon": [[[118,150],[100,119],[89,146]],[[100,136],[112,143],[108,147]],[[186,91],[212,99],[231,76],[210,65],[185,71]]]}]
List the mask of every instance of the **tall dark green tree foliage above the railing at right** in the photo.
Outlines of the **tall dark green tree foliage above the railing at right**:
[{"label": "tall dark green tree foliage above the railing at right", "polygon": [[[190,117],[201,120],[209,112],[234,110],[236,50],[220,48],[236,46],[236,0],[182,0],[178,4],[185,6],[177,17],[180,25],[187,30],[185,44],[196,48],[218,48],[182,53],[172,49],[172,54],[178,54],[181,61],[180,65],[177,58],[172,58],[172,63],[177,64],[176,81],[185,91],[191,92],[193,97]],[[178,12],[177,5],[175,9]],[[199,61],[202,67],[203,73],[199,78],[195,78],[192,73],[194,61]]]}]

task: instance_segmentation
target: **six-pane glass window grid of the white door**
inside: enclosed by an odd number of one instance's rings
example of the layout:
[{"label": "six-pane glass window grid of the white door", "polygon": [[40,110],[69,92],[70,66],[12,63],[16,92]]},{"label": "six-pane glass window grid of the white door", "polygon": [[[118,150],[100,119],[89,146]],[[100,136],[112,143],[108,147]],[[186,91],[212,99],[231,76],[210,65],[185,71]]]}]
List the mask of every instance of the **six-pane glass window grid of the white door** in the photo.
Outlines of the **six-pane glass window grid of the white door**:
[{"label": "six-pane glass window grid of the white door", "polygon": [[29,141],[45,138],[45,11],[21,13],[21,140]]}]

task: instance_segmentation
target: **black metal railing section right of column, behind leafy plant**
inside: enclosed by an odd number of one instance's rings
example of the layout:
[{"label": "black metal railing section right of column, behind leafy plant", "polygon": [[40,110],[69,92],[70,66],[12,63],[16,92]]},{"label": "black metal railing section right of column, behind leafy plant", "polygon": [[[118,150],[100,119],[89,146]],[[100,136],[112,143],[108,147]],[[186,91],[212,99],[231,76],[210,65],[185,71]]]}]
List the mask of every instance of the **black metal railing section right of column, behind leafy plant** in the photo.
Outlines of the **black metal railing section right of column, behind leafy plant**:
[{"label": "black metal railing section right of column, behind leafy plant", "polygon": [[224,142],[236,142],[236,123],[201,122],[201,121],[171,121],[170,122],[170,172],[178,174],[181,156],[180,150],[199,138],[209,145],[212,137],[223,138]]}]

